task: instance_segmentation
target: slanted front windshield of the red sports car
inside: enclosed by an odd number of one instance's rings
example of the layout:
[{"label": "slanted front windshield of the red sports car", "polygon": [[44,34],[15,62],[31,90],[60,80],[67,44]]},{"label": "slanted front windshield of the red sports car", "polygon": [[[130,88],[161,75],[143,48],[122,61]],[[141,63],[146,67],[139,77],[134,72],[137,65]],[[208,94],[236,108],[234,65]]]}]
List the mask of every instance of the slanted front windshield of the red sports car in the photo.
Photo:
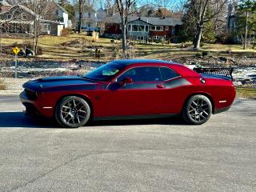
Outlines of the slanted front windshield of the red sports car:
[{"label": "slanted front windshield of the red sports car", "polygon": [[121,71],[124,67],[125,66],[123,66],[122,64],[110,62],[104,66],[99,67],[96,70],[90,71],[84,77],[90,78],[90,79],[96,80],[96,81],[107,82],[111,78],[113,78],[114,75],[118,74],[118,72]]}]

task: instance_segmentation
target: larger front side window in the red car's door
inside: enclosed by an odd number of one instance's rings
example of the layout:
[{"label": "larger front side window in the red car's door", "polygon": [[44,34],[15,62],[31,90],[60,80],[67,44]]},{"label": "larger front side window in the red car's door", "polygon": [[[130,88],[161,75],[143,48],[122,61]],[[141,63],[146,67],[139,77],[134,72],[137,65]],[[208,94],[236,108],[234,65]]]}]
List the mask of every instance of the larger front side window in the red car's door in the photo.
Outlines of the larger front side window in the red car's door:
[{"label": "larger front side window in the red car's door", "polygon": [[131,78],[133,82],[159,82],[161,74],[158,67],[138,67],[126,71],[118,78],[118,82],[123,78]]}]

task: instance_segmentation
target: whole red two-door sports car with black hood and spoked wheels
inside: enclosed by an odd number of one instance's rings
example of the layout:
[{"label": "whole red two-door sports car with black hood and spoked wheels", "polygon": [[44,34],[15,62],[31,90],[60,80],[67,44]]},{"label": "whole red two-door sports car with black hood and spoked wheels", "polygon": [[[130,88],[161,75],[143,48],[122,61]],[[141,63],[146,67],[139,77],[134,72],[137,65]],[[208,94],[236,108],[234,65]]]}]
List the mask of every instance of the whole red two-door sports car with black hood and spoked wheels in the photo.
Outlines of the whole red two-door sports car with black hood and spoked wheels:
[{"label": "whole red two-door sports car with black hood and spoked wheels", "polygon": [[82,77],[26,82],[20,99],[28,114],[55,118],[64,127],[84,126],[90,119],[174,114],[199,125],[228,110],[235,98],[230,77],[200,69],[159,60],[116,60]]}]

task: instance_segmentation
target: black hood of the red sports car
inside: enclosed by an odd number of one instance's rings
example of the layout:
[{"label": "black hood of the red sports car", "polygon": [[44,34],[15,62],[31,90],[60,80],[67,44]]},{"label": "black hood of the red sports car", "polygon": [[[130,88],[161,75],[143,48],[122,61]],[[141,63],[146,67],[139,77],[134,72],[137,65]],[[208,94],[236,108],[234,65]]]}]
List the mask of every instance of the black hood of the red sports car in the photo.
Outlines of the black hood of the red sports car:
[{"label": "black hood of the red sports car", "polygon": [[85,89],[90,86],[96,86],[98,82],[90,81],[89,79],[78,76],[63,76],[63,77],[50,77],[38,78],[26,82],[23,87],[27,90],[43,91],[43,90],[66,90],[75,89],[82,86]]}]

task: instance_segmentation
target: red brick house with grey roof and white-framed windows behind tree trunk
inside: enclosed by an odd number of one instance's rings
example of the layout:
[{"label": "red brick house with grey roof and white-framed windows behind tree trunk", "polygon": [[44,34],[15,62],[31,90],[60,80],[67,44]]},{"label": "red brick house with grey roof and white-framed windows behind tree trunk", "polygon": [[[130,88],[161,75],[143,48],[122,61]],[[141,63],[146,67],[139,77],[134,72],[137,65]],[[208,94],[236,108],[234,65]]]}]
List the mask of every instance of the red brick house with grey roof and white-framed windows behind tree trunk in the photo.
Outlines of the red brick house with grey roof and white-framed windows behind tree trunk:
[{"label": "red brick house with grey roof and white-framed windows behind tree trunk", "polygon": [[[130,17],[128,21],[127,37],[138,41],[159,41],[170,39],[178,41],[178,30],[182,26],[181,18],[148,18]],[[118,16],[106,18],[106,37],[122,37],[121,19]]]}]

